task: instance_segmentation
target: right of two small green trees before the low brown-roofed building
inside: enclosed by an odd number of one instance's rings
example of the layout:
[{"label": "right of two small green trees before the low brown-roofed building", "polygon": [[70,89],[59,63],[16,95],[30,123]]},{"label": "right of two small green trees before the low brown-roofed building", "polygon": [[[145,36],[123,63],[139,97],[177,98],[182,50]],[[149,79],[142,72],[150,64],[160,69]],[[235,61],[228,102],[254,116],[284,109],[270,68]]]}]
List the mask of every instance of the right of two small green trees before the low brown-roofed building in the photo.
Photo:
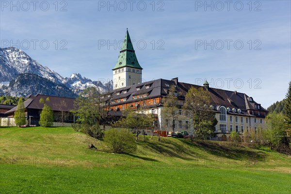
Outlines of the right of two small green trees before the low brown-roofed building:
[{"label": "right of two small green trees before the low brown-roofed building", "polygon": [[[45,103],[43,98],[40,98],[39,102],[44,104],[44,107],[40,113],[39,125],[42,127],[51,127],[53,124],[53,112],[50,106]],[[49,102],[49,97],[47,97],[46,102]]]}]

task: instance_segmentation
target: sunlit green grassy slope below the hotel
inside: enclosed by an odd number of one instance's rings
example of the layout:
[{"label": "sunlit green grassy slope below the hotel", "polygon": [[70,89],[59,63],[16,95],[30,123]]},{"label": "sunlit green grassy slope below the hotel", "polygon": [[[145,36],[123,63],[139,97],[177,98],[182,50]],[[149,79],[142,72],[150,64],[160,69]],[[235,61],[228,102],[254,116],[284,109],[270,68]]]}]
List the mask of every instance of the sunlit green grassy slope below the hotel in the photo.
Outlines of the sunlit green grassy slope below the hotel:
[{"label": "sunlit green grassy slope below the hotel", "polygon": [[112,154],[71,128],[0,128],[0,193],[291,193],[291,158],[266,147],[142,136],[137,144]]}]

